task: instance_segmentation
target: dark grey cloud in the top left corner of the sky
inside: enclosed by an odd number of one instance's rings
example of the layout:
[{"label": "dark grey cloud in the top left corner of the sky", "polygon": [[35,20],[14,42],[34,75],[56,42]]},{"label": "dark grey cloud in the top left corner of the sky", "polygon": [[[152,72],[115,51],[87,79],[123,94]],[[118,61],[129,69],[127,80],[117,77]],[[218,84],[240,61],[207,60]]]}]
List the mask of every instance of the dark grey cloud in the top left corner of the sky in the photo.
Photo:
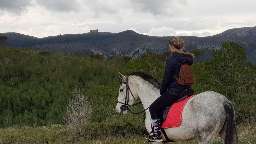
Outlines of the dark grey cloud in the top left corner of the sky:
[{"label": "dark grey cloud in the top left corner of the sky", "polygon": [[20,15],[30,5],[32,5],[31,0],[1,0],[0,10]]}]

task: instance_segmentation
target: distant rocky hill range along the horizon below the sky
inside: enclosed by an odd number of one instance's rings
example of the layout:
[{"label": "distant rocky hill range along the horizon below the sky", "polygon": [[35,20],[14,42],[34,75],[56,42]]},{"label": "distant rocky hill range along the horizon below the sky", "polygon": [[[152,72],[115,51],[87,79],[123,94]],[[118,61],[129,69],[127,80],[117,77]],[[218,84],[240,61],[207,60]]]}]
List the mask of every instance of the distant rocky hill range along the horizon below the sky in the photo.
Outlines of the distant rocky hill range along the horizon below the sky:
[{"label": "distant rocky hill range along the horizon below the sky", "polygon": [[[168,51],[168,37],[155,37],[138,34],[132,30],[120,33],[83,33],[66,34],[36,38],[19,33],[0,33],[8,38],[6,45],[14,47],[35,47],[40,50],[59,50],[67,52],[99,53],[104,57],[123,56],[140,57],[145,52],[162,53]],[[246,48],[247,60],[256,64],[256,26],[235,28],[208,37],[181,36],[187,51],[198,48],[205,55],[197,60],[208,61],[211,52],[220,49],[223,41],[235,41]]]}]

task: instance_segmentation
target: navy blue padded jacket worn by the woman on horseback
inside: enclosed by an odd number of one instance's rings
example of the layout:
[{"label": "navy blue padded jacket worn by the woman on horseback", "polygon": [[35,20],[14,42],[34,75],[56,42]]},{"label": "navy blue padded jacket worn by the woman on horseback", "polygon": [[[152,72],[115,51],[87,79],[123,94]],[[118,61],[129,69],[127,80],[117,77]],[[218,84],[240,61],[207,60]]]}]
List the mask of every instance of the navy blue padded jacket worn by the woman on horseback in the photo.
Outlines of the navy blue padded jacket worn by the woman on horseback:
[{"label": "navy blue padded jacket worn by the woman on horseback", "polygon": [[[176,59],[175,59],[175,58]],[[160,88],[160,94],[162,95],[168,89],[168,92],[172,95],[180,95],[185,89],[191,88],[191,85],[180,85],[174,78],[173,74],[178,77],[180,67],[183,61],[186,60],[187,64],[192,65],[193,59],[189,55],[181,53],[173,53],[171,57],[168,57],[165,64],[164,78]],[[181,63],[181,64],[180,64]]]}]

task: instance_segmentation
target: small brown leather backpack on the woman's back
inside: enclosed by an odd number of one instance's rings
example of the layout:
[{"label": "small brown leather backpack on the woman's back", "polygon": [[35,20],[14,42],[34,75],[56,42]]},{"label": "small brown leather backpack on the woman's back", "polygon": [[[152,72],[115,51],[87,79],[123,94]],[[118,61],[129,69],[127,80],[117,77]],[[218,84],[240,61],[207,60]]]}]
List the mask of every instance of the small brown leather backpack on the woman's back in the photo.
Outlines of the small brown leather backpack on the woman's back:
[{"label": "small brown leather backpack on the woman's back", "polygon": [[180,85],[191,85],[194,83],[194,74],[193,74],[192,67],[186,62],[187,61],[184,60],[183,64],[180,63],[181,67],[180,67],[180,73],[178,77],[176,77],[173,74],[174,78],[177,80],[178,84]]}]

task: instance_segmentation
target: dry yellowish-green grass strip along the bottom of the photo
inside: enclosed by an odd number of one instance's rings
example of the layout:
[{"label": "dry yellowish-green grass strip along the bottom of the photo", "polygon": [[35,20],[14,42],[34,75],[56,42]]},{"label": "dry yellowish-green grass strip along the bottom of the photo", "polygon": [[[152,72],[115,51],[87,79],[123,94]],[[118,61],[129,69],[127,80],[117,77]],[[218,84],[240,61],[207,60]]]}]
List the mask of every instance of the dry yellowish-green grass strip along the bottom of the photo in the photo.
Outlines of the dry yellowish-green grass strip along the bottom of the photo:
[{"label": "dry yellowish-green grass strip along the bottom of the photo", "polygon": [[[237,126],[239,144],[256,144],[256,124],[253,122]],[[96,133],[97,134],[97,133]],[[97,137],[97,139],[96,139]],[[0,144],[150,144],[142,135],[102,135],[86,138],[63,125],[45,127],[20,127],[0,129]],[[173,144],[198,144],[197,140],[174,142]],[[217,138],[213,144],[222,144]]]}]

